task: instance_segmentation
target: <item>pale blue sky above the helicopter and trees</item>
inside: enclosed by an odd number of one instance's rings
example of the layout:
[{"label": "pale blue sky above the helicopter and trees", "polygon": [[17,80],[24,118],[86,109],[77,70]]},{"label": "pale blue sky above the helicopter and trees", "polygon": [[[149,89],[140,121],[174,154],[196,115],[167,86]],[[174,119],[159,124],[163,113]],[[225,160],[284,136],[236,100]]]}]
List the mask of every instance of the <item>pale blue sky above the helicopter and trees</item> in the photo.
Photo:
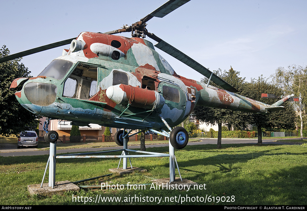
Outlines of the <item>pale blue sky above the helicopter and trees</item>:
[{"label": "pale blue sky above the helicopter and trees", "polygon": [[[164,2],[1,0],[0,45],[14,54],[77,37],[82,31],[116,30],[139,21]],[[152,18],[147,29],[210,70],[232,66],[250,81],[261,74],[269,78],[280,66],[306,65],[306,8],[303,0],[191,0],[164,18]],[[130,37],[130,33],[120,35]],[[64,48],[69,46],[26,56],[22,62],[37,76]],[[177,74],[203,78],[157,51]]]}]

